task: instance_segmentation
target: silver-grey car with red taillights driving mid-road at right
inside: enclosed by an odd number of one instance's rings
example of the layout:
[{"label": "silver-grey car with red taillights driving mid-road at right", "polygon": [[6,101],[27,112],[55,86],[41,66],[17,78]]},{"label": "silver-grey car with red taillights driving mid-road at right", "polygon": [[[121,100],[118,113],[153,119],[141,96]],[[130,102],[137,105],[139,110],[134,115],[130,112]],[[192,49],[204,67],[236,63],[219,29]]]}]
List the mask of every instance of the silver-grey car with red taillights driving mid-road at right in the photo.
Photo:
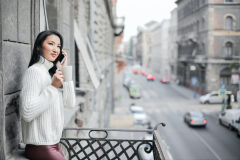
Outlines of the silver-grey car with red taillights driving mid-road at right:
[{"label": "silver-grey car with red taillights driving mid-road at right", "polygon": [[202,112],[190,111],[184,115],[184,121],[190,126],[206,127],[207,119]]}]

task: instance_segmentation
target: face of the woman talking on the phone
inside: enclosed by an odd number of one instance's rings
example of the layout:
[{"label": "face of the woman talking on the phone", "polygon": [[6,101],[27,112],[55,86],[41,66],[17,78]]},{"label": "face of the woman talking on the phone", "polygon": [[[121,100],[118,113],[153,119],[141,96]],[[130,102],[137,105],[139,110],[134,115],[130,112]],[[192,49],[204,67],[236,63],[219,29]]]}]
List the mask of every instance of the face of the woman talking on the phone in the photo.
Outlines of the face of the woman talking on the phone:
[{"label": "face of the woman talking on the phone", "polygon": [[43,41],[42,51],[44,57],[48,61],[55,61],[58,55],[60,54],[60,38],[54,34],[47,36],[47,38]]}]

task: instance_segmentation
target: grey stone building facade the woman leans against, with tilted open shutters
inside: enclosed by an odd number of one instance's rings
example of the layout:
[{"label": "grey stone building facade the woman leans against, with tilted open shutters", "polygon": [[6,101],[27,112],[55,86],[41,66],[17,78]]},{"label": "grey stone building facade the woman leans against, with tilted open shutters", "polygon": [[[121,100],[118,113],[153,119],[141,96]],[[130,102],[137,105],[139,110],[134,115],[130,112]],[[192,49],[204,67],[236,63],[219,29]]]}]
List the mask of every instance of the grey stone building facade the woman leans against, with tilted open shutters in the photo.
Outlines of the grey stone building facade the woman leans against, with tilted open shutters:
[{"label": "grey stone building facade the woman leans against, with tilted open shutters", "polygon": [[[73,67],[77,106],[64,110],[65,127],[108,127],[114,107],[116,2],[0,0],[0,159],[19,158],[14,156],[22,146],[21,79],[36,36],[45,29],[62,34]],[[72,131],[63,136],[86,134]]]}]

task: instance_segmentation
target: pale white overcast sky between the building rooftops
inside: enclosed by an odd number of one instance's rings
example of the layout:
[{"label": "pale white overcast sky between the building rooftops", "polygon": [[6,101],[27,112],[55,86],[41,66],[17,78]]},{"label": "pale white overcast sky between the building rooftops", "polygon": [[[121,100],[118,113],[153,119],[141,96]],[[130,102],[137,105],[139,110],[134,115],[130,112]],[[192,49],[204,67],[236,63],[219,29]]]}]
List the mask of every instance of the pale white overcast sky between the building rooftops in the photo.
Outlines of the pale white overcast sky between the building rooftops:
[{"label": "pale white overcast sky between the building rooftops", "polygon": [[151,20],[161,22],[170,19],[171,11],[177,8],[176,0],[118,0],[117,17],[125,16],[123,41],[137,35],[137,27]]}]

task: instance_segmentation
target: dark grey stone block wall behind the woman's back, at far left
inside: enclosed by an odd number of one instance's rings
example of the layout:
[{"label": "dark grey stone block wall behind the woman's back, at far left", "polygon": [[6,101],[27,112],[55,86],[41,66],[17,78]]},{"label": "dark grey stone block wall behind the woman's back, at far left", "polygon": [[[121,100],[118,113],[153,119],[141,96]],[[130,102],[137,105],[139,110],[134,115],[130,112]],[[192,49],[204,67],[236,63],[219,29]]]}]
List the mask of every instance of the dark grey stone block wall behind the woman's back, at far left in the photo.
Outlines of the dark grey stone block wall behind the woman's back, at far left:
[{"label": "dark grey stone block wall behind the woman's back, at far left", "polygon": [[[37,1],[0,1],[0,159],[7,159],[21,141],[19,94],[38,25]],[[33,9],[35,8],[35,9]]]}]

